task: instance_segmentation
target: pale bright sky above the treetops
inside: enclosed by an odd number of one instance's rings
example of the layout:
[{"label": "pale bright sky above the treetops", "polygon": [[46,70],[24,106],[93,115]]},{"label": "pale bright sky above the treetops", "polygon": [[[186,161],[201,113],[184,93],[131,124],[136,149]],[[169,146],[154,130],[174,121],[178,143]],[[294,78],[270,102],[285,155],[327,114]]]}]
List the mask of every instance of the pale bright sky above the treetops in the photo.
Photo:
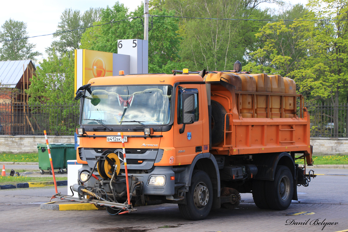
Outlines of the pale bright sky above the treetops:
[{"label": "pale bright sky above the treetops", "polygon": [[[285,0],[286,1],[286,0]],[[306,4],[306,0],[290,0],[292,4],[302,3]],[[61,21],[60,16],[64,9],[72,8],[78,9],[81,12],[88,10],[90,7],[112,7],[115,0],[16,0],[16,1],[3,1],[1,3],[0,25],[5,23],[6,20],[12,18],[13,20],[23,21],[27,23],[27,29],[29,36],[51,34],[57,30],[57,25]],[[140,6],[143,0],[119,0],[123,3],[129,11],[133,11],[137,6]],[[263,7],[274,7],[267,3],[260,5]],[[6,10],[8,9],[8,10]],[[35,50],[40,51],[43,55],[38,56],[38,61],[42,61],[43,58],[47,58],[45,48],[49,47],[53,40],[52,35],[46,35],[42,37],[36,37],[29,39],[30,43],[36,44]]]}]

